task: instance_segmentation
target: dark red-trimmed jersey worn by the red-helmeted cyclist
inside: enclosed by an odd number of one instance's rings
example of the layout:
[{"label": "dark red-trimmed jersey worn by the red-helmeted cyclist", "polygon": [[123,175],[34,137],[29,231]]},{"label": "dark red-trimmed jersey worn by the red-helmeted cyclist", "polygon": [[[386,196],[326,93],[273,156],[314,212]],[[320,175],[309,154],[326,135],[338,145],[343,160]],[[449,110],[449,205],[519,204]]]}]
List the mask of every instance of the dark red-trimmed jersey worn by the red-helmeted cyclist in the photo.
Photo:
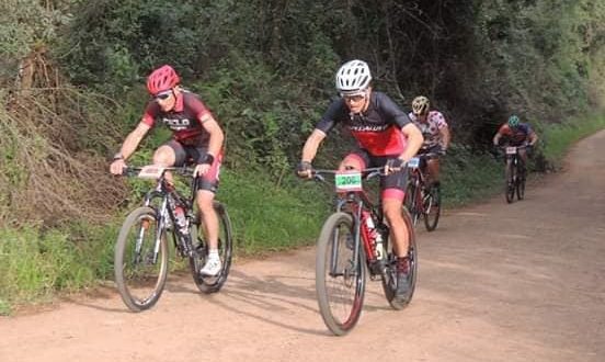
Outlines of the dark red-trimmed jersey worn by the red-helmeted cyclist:
[{"label": "dark red-trimmed jersey worn by the red-helmeted cyclist", "polygon": [[175,140],[206,147],[210,135],[202,125],[201,120],[209,113],[210,111],[196,94],[181,91],[172,111],[163,112],[156,101],[149,102],[142,122],[150,127],[153,127],[157,122],[161,122],[173,132]]}]

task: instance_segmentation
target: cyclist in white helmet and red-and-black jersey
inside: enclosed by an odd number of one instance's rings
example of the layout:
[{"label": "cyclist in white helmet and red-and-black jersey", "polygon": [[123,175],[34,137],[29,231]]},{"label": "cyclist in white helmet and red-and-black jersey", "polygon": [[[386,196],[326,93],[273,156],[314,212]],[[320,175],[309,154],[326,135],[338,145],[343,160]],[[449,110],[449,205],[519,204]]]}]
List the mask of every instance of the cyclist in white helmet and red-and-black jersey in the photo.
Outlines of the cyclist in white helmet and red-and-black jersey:
[{"label": "cyclist in white helmet and red-and-black jersey", "polygon": [[341,170],[383,166],[389,170],[380,180],[380,196],[399,260],[397,295],[404,296],[410,289],[408,230],[401,216],[407,173],[397,170],[416,154],[422,134],[387,94],[373,91],[372,73],[365,61],[345,63],[336,72],[335,81],[340,98],[330,104],[307,138],[297,173],[301,178],[311,177],[317,150],[336,124],[346,127],[358,144],[342,160]]}]

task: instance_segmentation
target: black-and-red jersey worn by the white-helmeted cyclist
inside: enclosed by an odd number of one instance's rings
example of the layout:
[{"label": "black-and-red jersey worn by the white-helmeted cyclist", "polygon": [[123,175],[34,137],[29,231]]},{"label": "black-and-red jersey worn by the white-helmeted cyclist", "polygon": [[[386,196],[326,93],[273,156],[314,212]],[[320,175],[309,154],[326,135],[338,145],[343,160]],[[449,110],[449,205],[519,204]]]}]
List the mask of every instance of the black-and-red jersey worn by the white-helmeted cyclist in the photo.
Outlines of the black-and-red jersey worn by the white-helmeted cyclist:
[{"label": "black-and-red jersey worn by the white-helmeted cyclist", "polygon": [[316,128],[327,134],[342,123],[362,149],[373,156],[395,156],[406,150],[408,143],[401,128],[410,122],[387,94],[372,92],[367,110],[358,114],[351,113],[344,99],[333,101]]}]

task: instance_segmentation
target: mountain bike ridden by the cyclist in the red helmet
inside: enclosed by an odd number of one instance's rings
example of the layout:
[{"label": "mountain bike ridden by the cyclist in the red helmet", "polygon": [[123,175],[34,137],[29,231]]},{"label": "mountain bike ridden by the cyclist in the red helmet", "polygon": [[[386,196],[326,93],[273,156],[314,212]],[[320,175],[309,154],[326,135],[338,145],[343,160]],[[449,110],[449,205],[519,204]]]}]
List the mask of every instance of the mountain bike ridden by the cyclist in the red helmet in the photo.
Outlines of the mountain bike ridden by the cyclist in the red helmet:
[{"label": "mountain bike ridden by the cyclist in the red helmet", "polygon": [[[201,215],[195,212],[195,185],[192,168],[157,166],[128,167],[124,176],[155,179],[142,206],[133,210],[124,220],[115,245],[114,273],[117,290],[133,312],[152,307],[160,298],[169,271],[169,241],[174,251],[189,259],[193,281],[204,293],[218,292],[227,281],[231,265],[232,231],[227,208],[218,201],[214,210],[219,219],[218,249],[222,269],[216,276],[201,275],[208,244],[205,240]],[[190,178],[190,194],[184,195],[167,181],[167,172]]]}]

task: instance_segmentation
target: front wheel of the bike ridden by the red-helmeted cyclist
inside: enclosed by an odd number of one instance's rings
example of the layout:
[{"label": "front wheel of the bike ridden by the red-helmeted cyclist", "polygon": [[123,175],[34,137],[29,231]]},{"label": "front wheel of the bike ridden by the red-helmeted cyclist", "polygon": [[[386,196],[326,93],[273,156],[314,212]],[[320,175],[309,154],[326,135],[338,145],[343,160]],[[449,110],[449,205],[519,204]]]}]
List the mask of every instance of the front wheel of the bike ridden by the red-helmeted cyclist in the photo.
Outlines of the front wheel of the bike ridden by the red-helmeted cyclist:
[{"label": "front wheel of the bike ridden by the red-helmeted cyclist", "polygon": [[[153,260],[158,233],[160,248]],[[136,252],[137,234],[142,236],[140,252]],[[128,268],[130,264],[133,270]],[[124,220],[114,250],[115,283],[124,304],[133,312],[152,307],[162,295],[168,269],[165,230],[158,230],[156,210],[147,206],[135,208]]]}]

